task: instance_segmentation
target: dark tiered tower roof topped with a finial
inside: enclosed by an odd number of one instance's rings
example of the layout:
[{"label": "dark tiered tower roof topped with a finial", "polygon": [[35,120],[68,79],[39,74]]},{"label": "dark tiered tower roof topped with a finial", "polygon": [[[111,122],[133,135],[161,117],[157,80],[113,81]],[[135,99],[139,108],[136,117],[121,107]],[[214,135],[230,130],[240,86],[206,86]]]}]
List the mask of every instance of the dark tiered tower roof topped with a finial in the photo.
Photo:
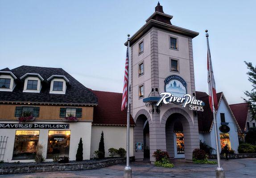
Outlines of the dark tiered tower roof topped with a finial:
[{"label": "dark tiered tower roof topped with a finial", "polygon": [[[178,34],[182,34],[184,36],[189,36],[194,38],[198,36],[198,32],[194,32],[185,28],[181,28],[178,26],[174,26],[171,24],[171,19],[173,16],[165,14],[163,11],[163,6],[160,5],[159,1],[157,6],[155,7],[155,12],[146,20],[146,24],[143,25],[131,38],[130,38],[130,45],[135,43],[141,36],[145,33],[149,32],[149,30],[153,27],[160,28],[166,31],[175,32]],[[128,41],[124,43],[127,46]]]}]

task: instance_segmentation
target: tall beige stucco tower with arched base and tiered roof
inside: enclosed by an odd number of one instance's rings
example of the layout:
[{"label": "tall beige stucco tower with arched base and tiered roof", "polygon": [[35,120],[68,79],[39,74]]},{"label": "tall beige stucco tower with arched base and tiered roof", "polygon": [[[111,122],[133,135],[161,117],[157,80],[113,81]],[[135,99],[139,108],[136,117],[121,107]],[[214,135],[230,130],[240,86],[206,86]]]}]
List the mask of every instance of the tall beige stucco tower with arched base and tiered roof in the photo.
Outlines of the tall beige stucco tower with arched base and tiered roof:
[{"label": "tall beige stucco tower with arched base and tiered roof", "polygon": [[172,18],[158,3],[146,24],[131,37],[136,160],[154,162],[152,154],[157,149],[168,151],[171,158],[192,160],[193,150],[199,147],[196,114],[181,104],[156,107],[154,102],[165,91],[195,96],[192,38],[199,33],[174,26]]}]

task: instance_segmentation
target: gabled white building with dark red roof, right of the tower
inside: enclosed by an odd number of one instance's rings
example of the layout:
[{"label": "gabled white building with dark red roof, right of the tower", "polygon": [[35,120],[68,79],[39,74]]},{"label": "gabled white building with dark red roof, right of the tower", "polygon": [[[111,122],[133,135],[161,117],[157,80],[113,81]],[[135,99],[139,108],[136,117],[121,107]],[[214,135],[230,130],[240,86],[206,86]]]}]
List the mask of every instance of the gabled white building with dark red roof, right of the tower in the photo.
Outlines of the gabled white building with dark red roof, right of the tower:
[{"label": "gabled white building with dark red roof, right of the tower", "polygon": [[[206,104],[204,106],[204,112],[198,113],[199,139],[201,142],[205,142],[208,146],[214,148],[215,151],[212,154],[216,154],[215,129],[213,124],[213,114],[209,106],[209,96],[204,92],[196,93],[197,97]],[[228,145],[229,150],[234,150],[235,153],[238,153],[238,134],[241,133],[241,129],[223,92],[217,93],[217,99],[218,110],[216,112],[216,121],[219,135],[219,151],[221,152],[224,146]]]}]

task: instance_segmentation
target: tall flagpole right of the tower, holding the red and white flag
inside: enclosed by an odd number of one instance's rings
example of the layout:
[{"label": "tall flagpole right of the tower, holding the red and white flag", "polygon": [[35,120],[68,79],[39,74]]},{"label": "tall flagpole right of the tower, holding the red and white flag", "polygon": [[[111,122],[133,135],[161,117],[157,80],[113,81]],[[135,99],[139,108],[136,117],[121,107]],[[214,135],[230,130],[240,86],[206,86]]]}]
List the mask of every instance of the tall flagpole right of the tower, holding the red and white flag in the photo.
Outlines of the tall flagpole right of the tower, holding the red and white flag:
[{"label": "tall flagpole right of the tower, holding the red and white flag", "polygon": [[208,50],[208,65],[209,65],[209,70],[210,70],[210,82],[211,82],[211,105],[212,105],[212,112],[213,112],[213,121],[214,121],[214,131],[215,131],[215,143],[216,143],[216,152],[217,152],[217,162],[218,162],[218,167],[216,169],[216,178],[225,178],[225,173],[223,168],[220,166],[220,155],[219,155],[219,137],[218,137],[218,129],[217,129],[217,121],[216,121],[216,111],[215,111],[215,106],[214,106],[214,95],[213,95],[213,90],[212,90],[212,71],[211,71],[211,52],[210,52],[210,47],[209,47],[209,34],[207,33],[208,30],[205,30],[206,32],[206,40],[207,40],[207,50]]}]

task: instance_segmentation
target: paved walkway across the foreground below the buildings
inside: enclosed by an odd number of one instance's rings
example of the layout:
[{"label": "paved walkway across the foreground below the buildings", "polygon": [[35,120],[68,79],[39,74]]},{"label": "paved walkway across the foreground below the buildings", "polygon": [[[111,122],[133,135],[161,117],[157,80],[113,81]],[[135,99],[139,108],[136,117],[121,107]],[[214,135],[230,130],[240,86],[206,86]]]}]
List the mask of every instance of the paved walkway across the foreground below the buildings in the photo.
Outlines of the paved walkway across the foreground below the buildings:
[{"label": "paved walkway across the foreground below the buildings", "polygon": [[[216,165],[199,165],[175,160],[175,168],[160,168],[149,162],[132,162],[133,178],[215,178]],[[221,162],[226,178],[255,178],[256,158]],[[124,165],[95,170],[0,175],[0,178],[122,178]]]}]

